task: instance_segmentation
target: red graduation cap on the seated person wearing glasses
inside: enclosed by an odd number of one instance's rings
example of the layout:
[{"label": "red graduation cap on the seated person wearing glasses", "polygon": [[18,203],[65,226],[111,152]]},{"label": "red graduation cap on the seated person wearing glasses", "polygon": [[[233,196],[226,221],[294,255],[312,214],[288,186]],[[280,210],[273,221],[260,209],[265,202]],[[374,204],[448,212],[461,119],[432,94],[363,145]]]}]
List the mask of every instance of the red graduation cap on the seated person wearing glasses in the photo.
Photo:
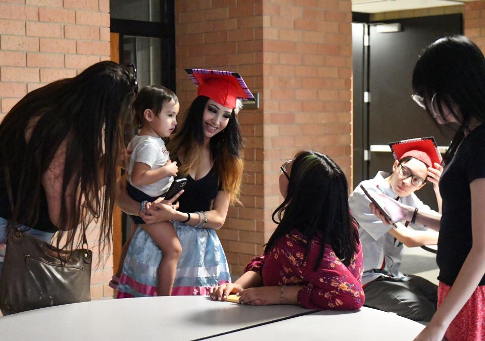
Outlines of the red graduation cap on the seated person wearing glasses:
[{"label": "red graduation cap on the seated person wearing glasses", "polygon": [[392,142],[389,143],[389,147],[398,161],[406,156],[412,156],[424,162],[428,167],[434,167],[434,163],[441,164],[443,160],[432,136]]}]

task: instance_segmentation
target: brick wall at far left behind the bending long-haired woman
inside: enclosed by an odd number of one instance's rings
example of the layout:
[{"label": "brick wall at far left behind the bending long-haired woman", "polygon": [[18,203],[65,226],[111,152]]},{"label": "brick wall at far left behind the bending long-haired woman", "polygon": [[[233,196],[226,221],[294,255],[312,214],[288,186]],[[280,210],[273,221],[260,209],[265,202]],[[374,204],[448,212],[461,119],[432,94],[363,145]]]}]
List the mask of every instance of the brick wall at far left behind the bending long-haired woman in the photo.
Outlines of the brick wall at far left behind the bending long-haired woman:
[{"label": "brick wall at far left behind the bending long-haired woman", "polygon": [[[28,91],[109,60],[109,26],[109,0],[2,0],[0,120]],[[89,239],[93,247],[96,238],[91,234]],[[93,300],[113,295],[106,285],[113,260],[106,257],[104,264],[93,266]]]}]

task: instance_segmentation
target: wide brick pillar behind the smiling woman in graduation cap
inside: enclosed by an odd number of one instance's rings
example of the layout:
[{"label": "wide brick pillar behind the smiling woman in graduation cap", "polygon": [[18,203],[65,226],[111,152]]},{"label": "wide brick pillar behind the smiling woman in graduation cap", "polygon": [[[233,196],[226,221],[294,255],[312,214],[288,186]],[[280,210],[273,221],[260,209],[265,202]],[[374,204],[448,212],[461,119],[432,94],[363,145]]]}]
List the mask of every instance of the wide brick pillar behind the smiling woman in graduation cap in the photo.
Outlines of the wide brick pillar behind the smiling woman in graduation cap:
[{"label": "wide brick pillar behind the smiling woman in graduation cap", "polygon": [[243,110],[243,206],[231,207],[218,234],[233,275],[262,253],[282,198],[279,166],[296,151],[329,154],[351,175],[350,0],[175,2],[177,94],[196,96],[183,71],[240,72],[261,108]]}]

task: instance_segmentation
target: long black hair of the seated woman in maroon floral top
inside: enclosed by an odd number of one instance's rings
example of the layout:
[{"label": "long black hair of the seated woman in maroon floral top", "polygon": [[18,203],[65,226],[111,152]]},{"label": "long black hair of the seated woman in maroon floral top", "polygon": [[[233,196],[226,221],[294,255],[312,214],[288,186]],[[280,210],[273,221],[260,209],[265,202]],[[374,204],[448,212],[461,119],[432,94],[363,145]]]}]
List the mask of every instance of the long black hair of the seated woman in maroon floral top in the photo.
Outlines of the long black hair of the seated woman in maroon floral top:
[{"label": "long black hair of the seated woman in maroon floral top", "polygon": [[357,251],[359,233],[349,211],[348,193],[345,174],[332,159],[315,151],[299,152],[293,161],[286,197],[273,212],[278,227],[266,244],[265,254],[279,238],[297,228],[308,240],[307,252],[314,238],[321,242],[314,270],[320,266],[325,243],[349,265]]}]

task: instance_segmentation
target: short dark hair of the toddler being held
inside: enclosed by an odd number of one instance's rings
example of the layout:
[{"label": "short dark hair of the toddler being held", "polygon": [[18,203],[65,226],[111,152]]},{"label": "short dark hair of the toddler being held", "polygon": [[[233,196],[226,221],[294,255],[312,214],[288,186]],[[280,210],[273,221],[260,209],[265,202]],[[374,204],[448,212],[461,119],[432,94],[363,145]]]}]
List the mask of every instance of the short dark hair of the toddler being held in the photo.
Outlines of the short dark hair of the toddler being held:
[{"label": "short dark hair of the toddler being held", "polygon": [[145,122],[143,113],[150,109],[158,117],[162,111],[163,105],[170,101],[178,103],[177,95],[162,85],[149,85],[142,88],[133,102],[133,121],[138,129]]}]

